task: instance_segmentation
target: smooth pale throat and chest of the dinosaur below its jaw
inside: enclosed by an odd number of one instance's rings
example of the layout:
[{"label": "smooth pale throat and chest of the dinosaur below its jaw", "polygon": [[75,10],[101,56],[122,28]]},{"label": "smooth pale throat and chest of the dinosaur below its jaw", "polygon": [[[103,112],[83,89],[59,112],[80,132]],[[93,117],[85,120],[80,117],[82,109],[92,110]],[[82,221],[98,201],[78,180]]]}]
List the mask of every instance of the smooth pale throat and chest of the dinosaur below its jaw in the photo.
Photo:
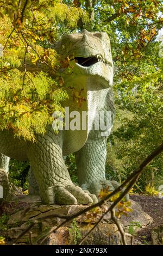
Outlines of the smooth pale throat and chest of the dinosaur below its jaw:
[{"label": "smooth pale throat and chest of the dinosaur below its jaw", "polygon": [[[71,76],[65,80],[68,88],[69,99],[64,102],[64,107],[69,107],[69,115],[77,111],[80,115],[80,129],[64,131],[63,154],[76,152],[85,144],[97,112],[104,106],[109,88],[100,77]],[[87,113],[87,123],[83,129],[83,112]],[[73,119],[73,118],[72,118]],[[70,118],[70,124],[72,119]]]}]

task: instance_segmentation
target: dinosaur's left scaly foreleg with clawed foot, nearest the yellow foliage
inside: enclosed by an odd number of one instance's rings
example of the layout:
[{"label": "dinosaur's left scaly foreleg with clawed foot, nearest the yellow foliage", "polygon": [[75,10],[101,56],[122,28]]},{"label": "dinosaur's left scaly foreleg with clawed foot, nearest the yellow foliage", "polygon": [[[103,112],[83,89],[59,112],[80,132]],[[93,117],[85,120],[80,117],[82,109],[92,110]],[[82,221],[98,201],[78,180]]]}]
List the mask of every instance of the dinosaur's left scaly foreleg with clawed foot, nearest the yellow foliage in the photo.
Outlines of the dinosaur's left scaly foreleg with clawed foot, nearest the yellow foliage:
[{"label": "dinosaur's left scaly foreleg with clawed foot, nearest the yellow foliage", "polygon": [[[39,185],[40,197],[47,204],[93,203],[90,194],[75,186],[62,157],[62,134],[49,129],[29,148],[29,161]],[[92,196],[93,197],[93,196]]]}]

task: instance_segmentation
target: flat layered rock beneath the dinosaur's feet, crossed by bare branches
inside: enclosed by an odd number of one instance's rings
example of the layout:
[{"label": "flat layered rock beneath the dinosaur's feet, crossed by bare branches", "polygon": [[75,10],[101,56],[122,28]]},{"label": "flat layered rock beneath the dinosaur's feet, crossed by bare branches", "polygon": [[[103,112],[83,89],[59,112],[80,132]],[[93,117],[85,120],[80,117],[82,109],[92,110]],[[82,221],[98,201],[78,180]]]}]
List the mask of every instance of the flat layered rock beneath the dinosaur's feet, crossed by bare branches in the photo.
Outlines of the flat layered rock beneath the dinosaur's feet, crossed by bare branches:
[{"label": "flat layered rock beneath the dinosaur's feet, crossed by bare branches", "polygon": [[[21,200],[21,197],[18,197]],[[26,200],[27,199],[27,200]],[[32,197],[30,196],[30,200]],[[38,198],[37,198],[38,199]],[[25,201],[26,200],[26,201]],[[22,197],[23,202],[29,203],[29,197]],[[133,211],[129,212],[128,216],[122,215],[120,222],[124,230],[128,232],[131,223],[139,222],[139,229],[145,228],[152,223],[152,218],[142,211],[141,206],[131,201],[131,208]],[[108,209],[110,204],[103,206]],[[37,244],[41,237],[45,236],[51,228],[57,227],[65,219],[59,216],[71,216],[76,214],[87,206],[85,205],[42,205],[36,202],[31,203],[30,206],[24,210],[17,211],[10,217],[9,225],[16,226],[9,229],[6,235],[14,241],[14,239],[22,233],[34,220],[39,223],[32,228],[32,242]],[[104,210],[104,209],[103,209]],[[57,232],[52,233],[47,237],[43,244],[45,245],[72,245],[78,243],[82,237],[97,223],[101,216],[101,209],[87,212],[86,214],[76,218],[76,221],[68,222],[61,227]],[[135,224],[136,225],[136,224]],[[131,243],[131,238],[127,237],[128,244]],[[29,233],[22,236],[18,243],[29,243]],[[106,215],[101,223],[93,230],[93,232],[86,238],[84,245],[121,245],[121,235],[116,224],[110,219],[110,213]]]}]

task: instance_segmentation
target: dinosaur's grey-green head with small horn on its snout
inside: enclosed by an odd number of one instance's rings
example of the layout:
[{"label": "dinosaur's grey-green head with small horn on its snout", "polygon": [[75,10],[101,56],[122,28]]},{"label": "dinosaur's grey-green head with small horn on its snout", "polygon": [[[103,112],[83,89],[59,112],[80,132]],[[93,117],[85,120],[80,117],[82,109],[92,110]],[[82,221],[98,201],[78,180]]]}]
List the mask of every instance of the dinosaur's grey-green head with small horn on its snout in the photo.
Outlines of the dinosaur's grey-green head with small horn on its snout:
[{"label": "dinosaur's grey-green head with small horn on its snout", "polygon": [[106,33],[88,32],[65,35],[55,46],[60,55],[76,60],[74,73],[97,76],[112,84],[113,64],[109,36]]}]

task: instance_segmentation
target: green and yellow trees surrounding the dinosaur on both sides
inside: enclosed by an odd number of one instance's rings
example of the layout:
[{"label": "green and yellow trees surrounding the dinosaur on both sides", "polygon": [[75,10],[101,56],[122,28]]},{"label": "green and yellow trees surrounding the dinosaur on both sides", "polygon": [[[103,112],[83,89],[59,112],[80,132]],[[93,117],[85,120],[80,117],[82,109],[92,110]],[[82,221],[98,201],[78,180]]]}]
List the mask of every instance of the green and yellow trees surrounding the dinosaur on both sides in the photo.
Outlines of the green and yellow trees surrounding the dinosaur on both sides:
[{"label": "green and yellow trees surrounding the dinosaur on both sides", "polygon": [[[0,15],[0,129],[10,127],[25,139],[44,132],[67,97],[55,41],[83,28],[108,33],[117,115],[106,169],[114,179],[126,178],[162,139],[162,57],[156,41],[163,24],[162,1],[0,1]],[[72,169],[73,157],[67,161]],[[158,184],[161,172],[159,156],[137,189]]]}]

